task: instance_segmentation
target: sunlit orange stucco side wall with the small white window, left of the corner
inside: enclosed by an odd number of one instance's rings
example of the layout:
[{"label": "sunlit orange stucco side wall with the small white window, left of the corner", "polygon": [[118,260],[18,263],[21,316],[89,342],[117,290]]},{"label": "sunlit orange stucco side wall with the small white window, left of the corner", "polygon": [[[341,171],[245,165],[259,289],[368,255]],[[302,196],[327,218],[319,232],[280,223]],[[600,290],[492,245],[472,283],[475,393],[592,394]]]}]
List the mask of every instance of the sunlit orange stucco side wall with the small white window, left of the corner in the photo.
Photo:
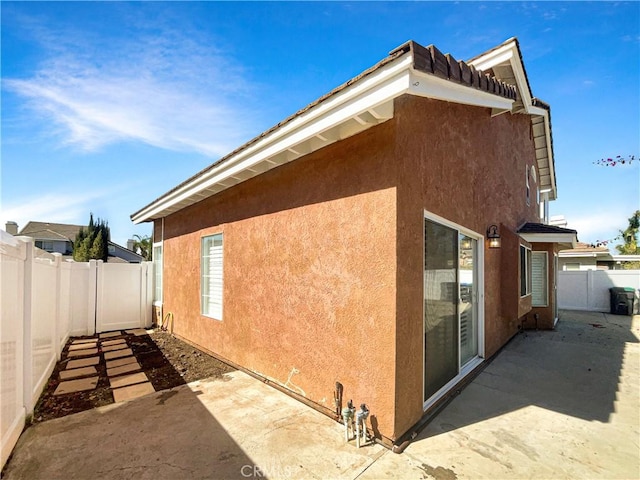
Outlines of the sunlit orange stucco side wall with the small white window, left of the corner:
[{"label": "sunlit orange stucco side wall with the small white window, left of the corner", "polygon": [[[396,188],[392,122],[156,222],[163,312],[179,337],[333,411],[394,426]],[[162,232],[163,230],[163,232]],[[223,319],[200,314],[201,238],[223,233]]]}]

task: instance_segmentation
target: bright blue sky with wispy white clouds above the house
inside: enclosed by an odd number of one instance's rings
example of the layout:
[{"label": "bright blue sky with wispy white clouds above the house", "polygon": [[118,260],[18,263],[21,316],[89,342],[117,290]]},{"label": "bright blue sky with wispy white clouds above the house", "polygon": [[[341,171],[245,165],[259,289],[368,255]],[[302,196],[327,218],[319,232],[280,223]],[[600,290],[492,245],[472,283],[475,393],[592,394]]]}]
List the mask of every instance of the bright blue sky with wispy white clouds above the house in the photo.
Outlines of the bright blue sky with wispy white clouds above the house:
[{"label": "bright blue sky with wispy white clouds above the house", "polygon": [[7,2],[0,226],[151,233],[129,215],[413,39],[465,60],[517,36],[552,108],[558,200],[581,241],[640,208],[637,2]]}]

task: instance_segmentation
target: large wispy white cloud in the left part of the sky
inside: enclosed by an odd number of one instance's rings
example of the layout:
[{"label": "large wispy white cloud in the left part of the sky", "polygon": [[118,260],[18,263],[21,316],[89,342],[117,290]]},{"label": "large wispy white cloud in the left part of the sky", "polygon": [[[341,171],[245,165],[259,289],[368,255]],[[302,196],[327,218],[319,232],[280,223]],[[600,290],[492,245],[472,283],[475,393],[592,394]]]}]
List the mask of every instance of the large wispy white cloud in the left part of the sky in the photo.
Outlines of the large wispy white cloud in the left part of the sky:
[{"label": "large wispy white cloud in the left part of the sky", "polygon": [[46,60],[4,87],[27,99],[62,145],[85,151],[140,141],[217,157],[255,133],[249,82],[211,39],[146,31],[114,40],[40,26]]}]

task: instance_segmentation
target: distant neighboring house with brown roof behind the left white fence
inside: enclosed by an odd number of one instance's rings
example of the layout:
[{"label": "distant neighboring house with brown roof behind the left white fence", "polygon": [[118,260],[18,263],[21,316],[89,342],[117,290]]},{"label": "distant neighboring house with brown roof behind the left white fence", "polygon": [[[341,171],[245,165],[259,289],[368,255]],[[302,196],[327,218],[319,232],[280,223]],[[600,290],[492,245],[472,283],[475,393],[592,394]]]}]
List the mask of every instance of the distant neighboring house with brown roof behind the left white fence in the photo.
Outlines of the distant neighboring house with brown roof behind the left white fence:
[{"label": "distant neighboring house with brown roof behind the left white fence", "polygon": [[[82,225],[69,225],[66,223],[29,222],[18,232],[15,222],[7,222],[6,231],[12,235],[31,237],[35,241],[36,248],[49,253],[61,253],[63,257],[73,258],[73,242]],[[133,248],[133,240],[128,243]],[[109,258],[107,262],[140,263],[144,259],[131,249],[124,248],[117,243],[109,242]]]}]

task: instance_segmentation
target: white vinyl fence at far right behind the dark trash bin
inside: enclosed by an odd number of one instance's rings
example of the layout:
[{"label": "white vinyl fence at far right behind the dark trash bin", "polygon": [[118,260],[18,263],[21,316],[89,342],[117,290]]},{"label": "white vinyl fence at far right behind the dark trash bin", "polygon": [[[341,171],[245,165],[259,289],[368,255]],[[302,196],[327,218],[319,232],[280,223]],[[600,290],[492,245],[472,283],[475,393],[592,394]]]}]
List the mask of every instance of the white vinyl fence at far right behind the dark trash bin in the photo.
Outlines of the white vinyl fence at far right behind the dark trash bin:
[{"label": "white vinyl fence at far right behind the dark trash bin", "polygon": [[558,272],[558,307],[566,310],[610,310],[609,288],[635,290],[634,312],[638,313],[640,270],[582,270]]}]

